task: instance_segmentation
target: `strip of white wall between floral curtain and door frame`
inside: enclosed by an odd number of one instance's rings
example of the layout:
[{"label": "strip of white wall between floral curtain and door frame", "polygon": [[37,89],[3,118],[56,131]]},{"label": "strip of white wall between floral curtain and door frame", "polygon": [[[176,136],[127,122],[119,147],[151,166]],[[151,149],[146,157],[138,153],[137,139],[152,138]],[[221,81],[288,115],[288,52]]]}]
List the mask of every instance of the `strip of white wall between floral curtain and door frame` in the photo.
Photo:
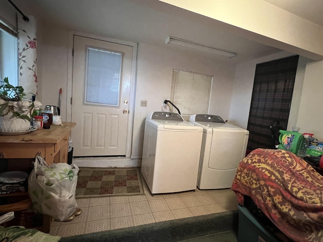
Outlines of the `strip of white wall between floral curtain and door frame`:
[{"label": "strip of white wall between floral curtain and door frame", "polygon": [[58,105],[62,88],[61,116],[66,121],[68,34],[66,28],[37,23],[38,98],[45,105]]}]

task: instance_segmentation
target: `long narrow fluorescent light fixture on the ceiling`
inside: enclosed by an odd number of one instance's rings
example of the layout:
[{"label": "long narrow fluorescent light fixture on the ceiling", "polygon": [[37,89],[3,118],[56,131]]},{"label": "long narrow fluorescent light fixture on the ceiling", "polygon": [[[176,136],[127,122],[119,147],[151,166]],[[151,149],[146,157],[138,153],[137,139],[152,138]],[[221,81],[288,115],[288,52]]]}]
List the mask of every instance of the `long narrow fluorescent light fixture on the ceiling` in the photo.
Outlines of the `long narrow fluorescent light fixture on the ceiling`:
[{"label": "long narrow fluorescent light fixture on the ceiling", "polygon": [[182,46],[186,46],[186,47],[190,47],[190,48],[195,48],[195,49],[211,52],[214,54],[220,54],[220,55],[227,56],[230,58],[237,56],[237,54],[234,52],[230,52],[230,51],[226,51],[226,50],[222,50],[222,49],[217,49],[214,47],[209,47],[209,46],[195,43],[195,42],[192,42],[189,40],[180,39],[180,38],[171,37],[171,36],[169,36],[166,39],[165,44],[178,44],[178,45],[182,45]]}]

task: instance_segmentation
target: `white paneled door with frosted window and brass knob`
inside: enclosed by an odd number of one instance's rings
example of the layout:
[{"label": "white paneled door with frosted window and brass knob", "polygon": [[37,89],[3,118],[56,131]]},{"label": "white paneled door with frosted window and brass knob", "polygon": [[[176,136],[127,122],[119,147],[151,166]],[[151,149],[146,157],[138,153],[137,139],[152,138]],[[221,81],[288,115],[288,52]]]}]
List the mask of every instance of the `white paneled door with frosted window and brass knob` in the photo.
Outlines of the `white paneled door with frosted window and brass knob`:
[{"label": "white paneled door with frosted window and brass knob", "polygon": [[126,154],[133,46],[74,36],[73,156]]}]

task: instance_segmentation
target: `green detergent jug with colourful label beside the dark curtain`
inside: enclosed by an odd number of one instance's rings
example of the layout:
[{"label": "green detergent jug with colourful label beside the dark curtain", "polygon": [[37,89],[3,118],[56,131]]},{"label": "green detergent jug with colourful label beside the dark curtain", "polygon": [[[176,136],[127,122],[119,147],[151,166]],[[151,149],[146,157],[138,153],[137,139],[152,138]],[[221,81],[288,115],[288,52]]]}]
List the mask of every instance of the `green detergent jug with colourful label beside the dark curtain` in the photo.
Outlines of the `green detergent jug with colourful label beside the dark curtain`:
[{"label": "green detergent jug with colourful label beside the dark curtain", "polygon": [[278,149],[288,150],[294,154],[301,148],[304,143],[304,136],[301,133],[280,130],[281,134],[279,136],[280,145]]}]

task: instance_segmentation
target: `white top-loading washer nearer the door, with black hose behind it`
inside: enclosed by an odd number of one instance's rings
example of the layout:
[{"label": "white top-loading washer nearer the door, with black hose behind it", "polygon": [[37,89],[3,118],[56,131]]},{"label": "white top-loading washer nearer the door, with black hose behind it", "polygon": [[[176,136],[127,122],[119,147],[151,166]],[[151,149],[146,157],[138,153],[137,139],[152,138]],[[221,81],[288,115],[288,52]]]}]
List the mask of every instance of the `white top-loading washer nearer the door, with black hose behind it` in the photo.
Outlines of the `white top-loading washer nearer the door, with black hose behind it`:
[{"label": "white top-loading washer nearer the door, with black hose behind it", "polygon": [[151,194],[196,189],[202,136],[201,127],[178,113],[147,115],[141,173]]}]

